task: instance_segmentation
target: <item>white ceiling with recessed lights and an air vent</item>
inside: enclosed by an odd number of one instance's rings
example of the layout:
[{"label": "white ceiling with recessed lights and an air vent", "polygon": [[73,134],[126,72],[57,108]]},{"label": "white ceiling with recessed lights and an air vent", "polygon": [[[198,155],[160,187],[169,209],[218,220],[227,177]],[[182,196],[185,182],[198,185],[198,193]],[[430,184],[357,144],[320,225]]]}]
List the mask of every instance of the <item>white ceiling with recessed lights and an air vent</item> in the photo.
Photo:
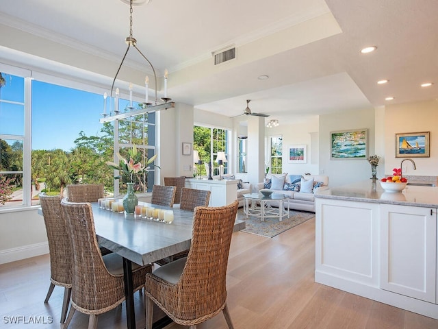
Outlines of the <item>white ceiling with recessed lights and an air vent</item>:
[{"label": "white ceiling with recessed lights and an air vent", "polygon": [[[437,99],[437,13],[436,0],[151,0],[133,7],[133,36],[159,77],[169,69],[174,101],[233,117],[251,99],[253,112],[286,123]],[[2,0],[1,26],[27,36],[24,42],[0,33],[2,46],[44,57],[38,49],[44,38],[101,56],[115,73],[129,35],[129,6],[120,0]],[[229,45],[237,47],[237,60],[215,67],[211,53]],[[378,49],[359,53],[368,45]],[[47,58],[75,65],[73,54]],[[127,65],[143,77],[150,73],[135,51]],[[378,86],[384,78],[389,84]],[[420,87],[428,81],[435,84]],[[390,95],[395,99],[385,101]]]}]

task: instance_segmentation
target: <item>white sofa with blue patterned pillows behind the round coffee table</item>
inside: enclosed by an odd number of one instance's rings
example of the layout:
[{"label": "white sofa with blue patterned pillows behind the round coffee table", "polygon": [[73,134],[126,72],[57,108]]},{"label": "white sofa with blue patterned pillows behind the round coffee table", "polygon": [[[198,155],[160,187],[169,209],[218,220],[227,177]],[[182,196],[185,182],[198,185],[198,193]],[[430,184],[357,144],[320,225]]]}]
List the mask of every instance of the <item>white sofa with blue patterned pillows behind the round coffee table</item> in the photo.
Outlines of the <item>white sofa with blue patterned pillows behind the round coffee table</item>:
[{"label": "white sofa with blue patterned pillows behind the round coffee table", "polygon": [[[281,176],[285,175],[285,180],[283,182],[283,188],[279,188],[281,186]],[[276,186],[272,186],[269,188],[272,190],[272,187],[274,188],[272,191],[274,193],[282,193],[284,195],[290,195],[289,199],[289,208],[290,209],[296,209],[296,210],[305,210],[305,211],[311,211],[315,212],[315,193],[318,193],[320,191],[328,190],[329,189],[329,176],[326,175],[288,175],[288,174],[276,174],[276,175],[268,175],[266,178],[271,180],[271,184],[276,183]],[[313,180],[313,186],[311,190],[307,189],[307,191],[302,191],[300,189],[301,180],[300,178],[303,178],[305,181],[311,181]],[[298,182],[299,179],[299,182]],[[310,182],[309,182],[310,183]],[[318,184],[315,184],[318,183]],[[306,182],[304,183],[306,184]],[[298,185],[298,186],[297,186]],[[309,184],[307,184],[309,185]],[[320,185],[320,186],[319,186]],[[285,187],[291,188],[295,191],[289,191],[285,190]],[[296,191],[297,189],[300,189],[299,191]],[[255,192],[266,190],[268,188],[265,188],[265,182],[258,183],[254,190]],[[303,189],[304,190],[304,189]],[[310,192],[310,193],[306,193]],[[272,206],[276,206],[278,204],[277,202],[272,202]],[[284,203],[285,208],[287,208],[287,202]]]}]

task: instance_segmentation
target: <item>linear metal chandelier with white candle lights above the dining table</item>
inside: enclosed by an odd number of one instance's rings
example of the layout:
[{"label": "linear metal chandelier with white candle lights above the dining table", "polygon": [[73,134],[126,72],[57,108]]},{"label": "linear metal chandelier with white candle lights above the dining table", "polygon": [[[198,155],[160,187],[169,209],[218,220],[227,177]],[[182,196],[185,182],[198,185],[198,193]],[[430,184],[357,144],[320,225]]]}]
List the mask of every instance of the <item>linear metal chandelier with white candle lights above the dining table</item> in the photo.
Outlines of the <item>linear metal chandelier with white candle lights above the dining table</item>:
[{"label": "linear metal chandelier with white candle lights above the dining table", "polygon": [[[114,80],[112,81],[112,85],[111,85],[110,98],[114,99],[114,112],[107,114],[107,97],[108,96],[107,96],[107,93],[104,93],[103,94],[103,113],[101,114],[103,118],[101,118],[101,120],[100,120],[101,123],[108,122],[108,121],[114,121],[116,119],[125,119],[127,117],[134,117],[134,116],[139,115],[139,114],[155,112],[158,110],[165,110],[167,108],[175,108],[175,103],[170,102],[171,98],[167,97],[167,77],[168,77],[167,70],[164,73],[164,97],[161,98],[162,101],[164,101],[164,103],[161,103],[161,104],[158,103],[157,74],[155,73],[155,69],[154,69],[152,63],[148,60],[148,58],[146,58],[146,56],[144,56],[142,51],[140,51],[140,49],[138,49],[137,40],[136,40],[136,38],[133,37],[133,33],[132,33],[132,12],[133,12],[132,5],[133,5],[133,2],[137,2],[137,5],[140,5],[144,2],[149,3],[149,0],[121,0],[121,1],[124,3],[129,3],[129,36],[127,36],[127,38],[125,39],[125,42],[126,42],[128,47],[125,51],[125,55],[123,55],[122,62],[120,62],[120,65],[118,66],[116,75],[114,76]],[[146,95],[145,95],[145,101],[144,101],[144,103],[142,103],[142,108],[140,108],[138,110],[134,110],[134,108],[132,106],[132,84],[129,84],[129,106],[127,106],[127,108],[125,108],[124,113],[120,113],[120,110],[118,108],[118,101],[120,98],[120,90],[119,90],[119,88],[116,88],[115,96],[113,96],[114,84],[116,83],[117,75],[120,72],[120,69],[122,68],[123,62],[125,61],[125,58],[127,56],[127,53],[129,51],[130,47],[133,47],[134,49],[136,49],[138,51],[138,53],[140,53],[142,58],[144,58],[144,60],[146,60],[146,62],[148,62],[149,66],[151,66],[151,69],[153,71],[154,82],[155,82],[155,102],[154,103],[149,102],[149,97],[148,97],[149,77],[146,76],[146,78],[144,80]]]}]

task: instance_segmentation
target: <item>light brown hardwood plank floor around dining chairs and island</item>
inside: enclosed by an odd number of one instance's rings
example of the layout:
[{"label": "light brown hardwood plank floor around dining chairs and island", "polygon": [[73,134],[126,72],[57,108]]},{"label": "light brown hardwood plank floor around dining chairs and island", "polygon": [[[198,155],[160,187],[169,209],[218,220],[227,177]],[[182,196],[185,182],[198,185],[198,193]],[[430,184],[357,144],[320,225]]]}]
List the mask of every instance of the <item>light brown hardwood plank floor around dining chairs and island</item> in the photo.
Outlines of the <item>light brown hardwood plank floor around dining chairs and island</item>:
[{"label": "light brown hardwood plank floor around dining chairs and island", "polygon": [[[233,234],[227,303],[235,329],[436,329],[438,320],[407,312],[314,282],[315,219],[272,239]],[[63,289],[48,304],[49,256],[0,265],[0,328],[59,328]],[[136,293],[137,328],[144,328],[142,296]],[[52,324],[6,324],[14,316]],[[76,312],[69,328],[87,328]],[[99,328],[126,328],[125,304],[99,316]],[[176,324],[168,329],[186,328]],[[227,329],[222,314],[199,329]]]}]

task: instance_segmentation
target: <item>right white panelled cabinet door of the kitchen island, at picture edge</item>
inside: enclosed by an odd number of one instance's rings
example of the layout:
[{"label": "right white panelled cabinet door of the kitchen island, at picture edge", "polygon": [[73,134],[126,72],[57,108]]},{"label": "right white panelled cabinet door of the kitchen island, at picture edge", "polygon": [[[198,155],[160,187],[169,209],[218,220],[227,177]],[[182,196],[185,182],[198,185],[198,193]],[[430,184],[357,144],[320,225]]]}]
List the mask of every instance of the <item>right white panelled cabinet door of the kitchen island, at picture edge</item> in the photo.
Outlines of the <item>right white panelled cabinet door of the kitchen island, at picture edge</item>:
[{"label": "right white panelled cabinet door of the kitchen island, at picture edge", "polygon": [[436,302],[436,209],[381,205],[381,289]]}]

